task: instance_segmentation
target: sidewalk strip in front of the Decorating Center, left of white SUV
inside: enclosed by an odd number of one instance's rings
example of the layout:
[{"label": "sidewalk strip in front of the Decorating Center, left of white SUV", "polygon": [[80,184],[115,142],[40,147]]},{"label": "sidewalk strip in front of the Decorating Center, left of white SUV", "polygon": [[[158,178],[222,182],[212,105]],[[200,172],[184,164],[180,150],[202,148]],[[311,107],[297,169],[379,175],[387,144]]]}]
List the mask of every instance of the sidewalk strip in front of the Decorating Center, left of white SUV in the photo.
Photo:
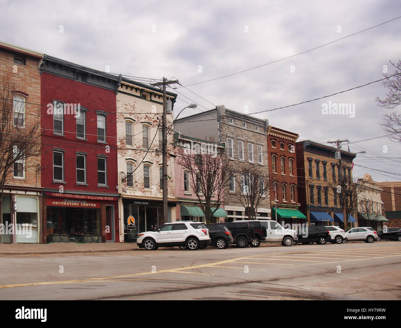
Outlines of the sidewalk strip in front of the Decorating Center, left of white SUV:
[{"label": "sidewalk strip in front of the Decorating Center, left of white SUV", "polygon": [[136,243],[0,244],[0,255],[118,252],[139,250]]}]

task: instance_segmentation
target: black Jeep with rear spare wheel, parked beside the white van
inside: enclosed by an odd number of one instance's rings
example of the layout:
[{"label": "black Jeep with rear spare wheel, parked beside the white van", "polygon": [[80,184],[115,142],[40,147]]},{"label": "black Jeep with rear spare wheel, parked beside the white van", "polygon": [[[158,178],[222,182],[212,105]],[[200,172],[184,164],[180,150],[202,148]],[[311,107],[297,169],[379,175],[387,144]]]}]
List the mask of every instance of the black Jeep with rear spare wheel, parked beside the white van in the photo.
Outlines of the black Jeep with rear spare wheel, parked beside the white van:
[{"label": "black Jeep with rear spare wheel, parked beside the white van", "polygon": [[233,221],[218,223],[218,225],[224,225],[231,231],[231,234],[233,235],[233,243],[238,247],[245,248],[248,245],[258,247],[260,241],[265,240],[266,237],[260,233],[260,231],[263,231],[262,225],[259,221],[256,222],[257,223],[255,224],[258,225],[256,229],[255,227],[251,227],[250,221]]}]

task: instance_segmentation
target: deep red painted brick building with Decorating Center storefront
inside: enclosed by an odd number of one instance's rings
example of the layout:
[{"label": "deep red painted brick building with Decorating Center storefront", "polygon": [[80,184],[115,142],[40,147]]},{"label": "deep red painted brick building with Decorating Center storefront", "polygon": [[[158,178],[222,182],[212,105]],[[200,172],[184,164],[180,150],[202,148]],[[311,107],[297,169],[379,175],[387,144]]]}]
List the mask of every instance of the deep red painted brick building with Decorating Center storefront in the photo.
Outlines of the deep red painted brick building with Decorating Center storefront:
[{"label": "deep red painted brick building with Decorating Center storefront", "polygon": [[40,73],[41,242],[119,241],[116,94],[121,77],[47,55]]}]

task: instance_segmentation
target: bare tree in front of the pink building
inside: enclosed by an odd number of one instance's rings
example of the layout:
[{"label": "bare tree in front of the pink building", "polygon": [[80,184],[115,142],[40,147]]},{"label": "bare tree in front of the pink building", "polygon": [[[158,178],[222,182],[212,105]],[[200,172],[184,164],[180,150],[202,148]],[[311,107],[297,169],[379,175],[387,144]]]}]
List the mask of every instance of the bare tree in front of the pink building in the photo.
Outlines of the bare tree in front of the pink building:
[{"label": "bare tree in front of the pink building", "polygon": [[[213,145],[212,147],[209,147]],[[190,185],[211,223],[214,213],[224,204],[224,190],[229,185],[231,163],[211,138],[210,143],[195,143],[193,147],[178,147],[176,161],[189,171]]]}]

